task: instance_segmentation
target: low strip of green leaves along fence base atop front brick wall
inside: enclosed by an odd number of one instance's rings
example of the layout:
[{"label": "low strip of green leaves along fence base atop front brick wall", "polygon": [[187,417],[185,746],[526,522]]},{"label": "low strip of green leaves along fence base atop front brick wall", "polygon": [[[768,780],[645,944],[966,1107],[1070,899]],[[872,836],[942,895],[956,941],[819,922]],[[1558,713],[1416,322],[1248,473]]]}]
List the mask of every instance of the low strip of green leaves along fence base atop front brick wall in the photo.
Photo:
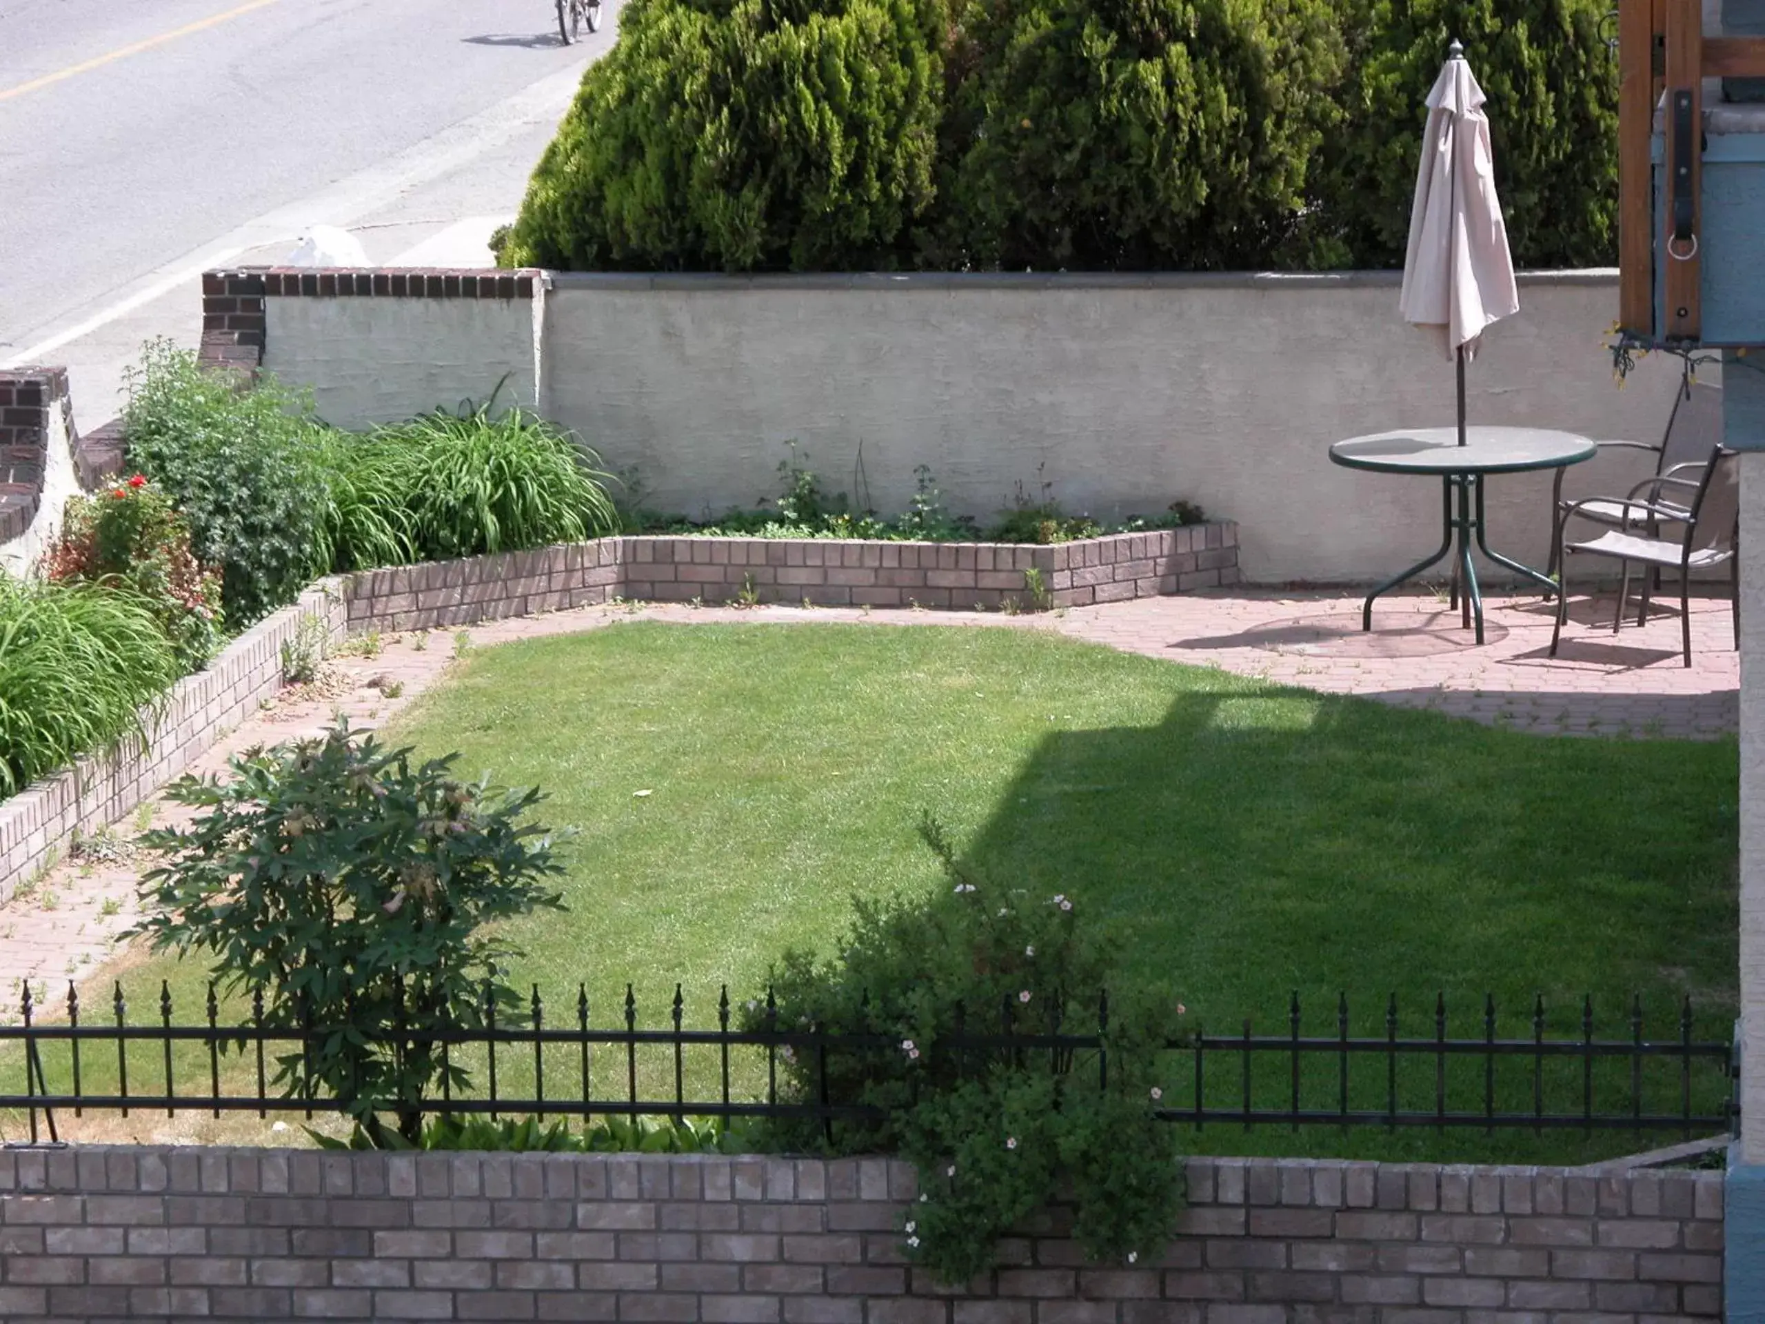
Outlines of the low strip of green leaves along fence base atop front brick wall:
[{"label": "low strip of green leaves along fence base atop front brick wall", "polygon": [[348,1140],[309,1132],[321,1149],[468,1149],[491,1153],[549,1155],[738,1155],[738,1133],[720,1121],[692,1117],[604,1117],[581,1132],[570,1123],[540,1117],[466,1117],[439,1114],[424,1123],[422,1135],[408,1140],[381,1132],[379,1140],[357,1126]]}]

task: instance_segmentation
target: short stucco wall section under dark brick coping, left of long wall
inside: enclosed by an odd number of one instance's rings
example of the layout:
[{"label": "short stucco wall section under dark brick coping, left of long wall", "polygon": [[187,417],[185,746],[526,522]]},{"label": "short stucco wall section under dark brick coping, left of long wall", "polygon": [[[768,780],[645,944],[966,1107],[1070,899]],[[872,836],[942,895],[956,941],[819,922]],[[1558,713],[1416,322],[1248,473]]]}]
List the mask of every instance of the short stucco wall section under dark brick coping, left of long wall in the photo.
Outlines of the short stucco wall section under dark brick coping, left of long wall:
[{"label": "short stucco wall section under dark brick coping, left of long wall", "polygon": [[337,427],[478,404],[535,406],[528,298],[267,298],[263,365]]}]

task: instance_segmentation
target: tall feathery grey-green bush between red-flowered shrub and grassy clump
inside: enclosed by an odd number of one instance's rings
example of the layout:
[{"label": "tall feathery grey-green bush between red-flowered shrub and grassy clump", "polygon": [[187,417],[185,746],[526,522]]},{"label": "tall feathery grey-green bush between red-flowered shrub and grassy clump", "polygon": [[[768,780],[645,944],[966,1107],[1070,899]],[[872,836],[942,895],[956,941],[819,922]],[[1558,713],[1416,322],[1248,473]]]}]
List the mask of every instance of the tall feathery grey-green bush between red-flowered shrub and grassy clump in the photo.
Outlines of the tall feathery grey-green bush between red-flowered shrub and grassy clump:
[{"label": "tall feathery grey-green bush between red-flowered shrub and grassy clump", "polygon": [[293,602],[328,567],[316,427],[274,380],[242,388],[169,341],[148,344],[129,372],[129,461],[189,519],[196,560],[221,567],[235,625]]}]

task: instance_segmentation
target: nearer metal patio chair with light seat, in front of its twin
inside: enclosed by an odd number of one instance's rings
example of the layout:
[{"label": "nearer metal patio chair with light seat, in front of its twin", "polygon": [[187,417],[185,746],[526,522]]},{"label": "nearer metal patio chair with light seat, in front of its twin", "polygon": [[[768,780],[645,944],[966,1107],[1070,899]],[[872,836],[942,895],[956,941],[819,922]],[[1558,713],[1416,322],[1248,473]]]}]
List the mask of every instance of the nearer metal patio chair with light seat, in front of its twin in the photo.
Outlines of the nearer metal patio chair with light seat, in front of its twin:
[{"label": "nearer metal patio chair with light seat, in front of its twin", "polygon": [[[1636,613],[1638,625],[1649,621],[1649,593],[1654,577],[1650,572],[1657,575],[1659,570],[1679,570],[1679,620],[1687,667],[1691,666],[1691,572],[1726,563],[1728,588],[1733,595],[1735,648],[1740,648],[1740,558],[1735,554],[1740,537],[1740,461],[1737,452],[1714,447],[1698,478],[1663,475],[1652,478],[1650,484],[1657,485],[1656,491],[1689,493],[1689,500],[1684,505],[1666,505],[1622,496],[1588,496],[1583,501],[1566,503],[1560,521],[1564,531],[1557,545],[1557,565],[1564,568],[1564,574],[1557,593],[1557,627],[1550,636],[1551,657],[1557,657],[1562,623],[1569,616],[1569,553],[1606,556],[1619,561],[1619,606],[1611,616],[1613,634],[1624,623],[1624,604],[1631,595],[1631,561],[1640,563],[1645,572],[1643,598]],[[1569,519],[1580,515],[1581,507],[1590,505],[1617,508],[1620,526],[1587,542],[1569,542],[1566,531]],[[1663,538],[1663,523],[1684,524],[1684,537]]]}]

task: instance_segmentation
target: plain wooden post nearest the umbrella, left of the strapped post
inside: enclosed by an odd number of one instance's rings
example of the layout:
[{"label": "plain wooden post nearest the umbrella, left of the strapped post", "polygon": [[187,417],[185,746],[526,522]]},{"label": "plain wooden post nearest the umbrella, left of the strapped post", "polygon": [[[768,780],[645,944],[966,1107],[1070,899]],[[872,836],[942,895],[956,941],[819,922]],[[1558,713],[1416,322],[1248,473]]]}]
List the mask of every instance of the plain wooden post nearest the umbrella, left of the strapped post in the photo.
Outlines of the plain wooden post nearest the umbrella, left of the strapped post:
[{"label": "plain wooden post nearest the umbrella, left of the strapped post", "polygon": [[1654,12],[1619,0],[1619,328],[1654,335]]}]

